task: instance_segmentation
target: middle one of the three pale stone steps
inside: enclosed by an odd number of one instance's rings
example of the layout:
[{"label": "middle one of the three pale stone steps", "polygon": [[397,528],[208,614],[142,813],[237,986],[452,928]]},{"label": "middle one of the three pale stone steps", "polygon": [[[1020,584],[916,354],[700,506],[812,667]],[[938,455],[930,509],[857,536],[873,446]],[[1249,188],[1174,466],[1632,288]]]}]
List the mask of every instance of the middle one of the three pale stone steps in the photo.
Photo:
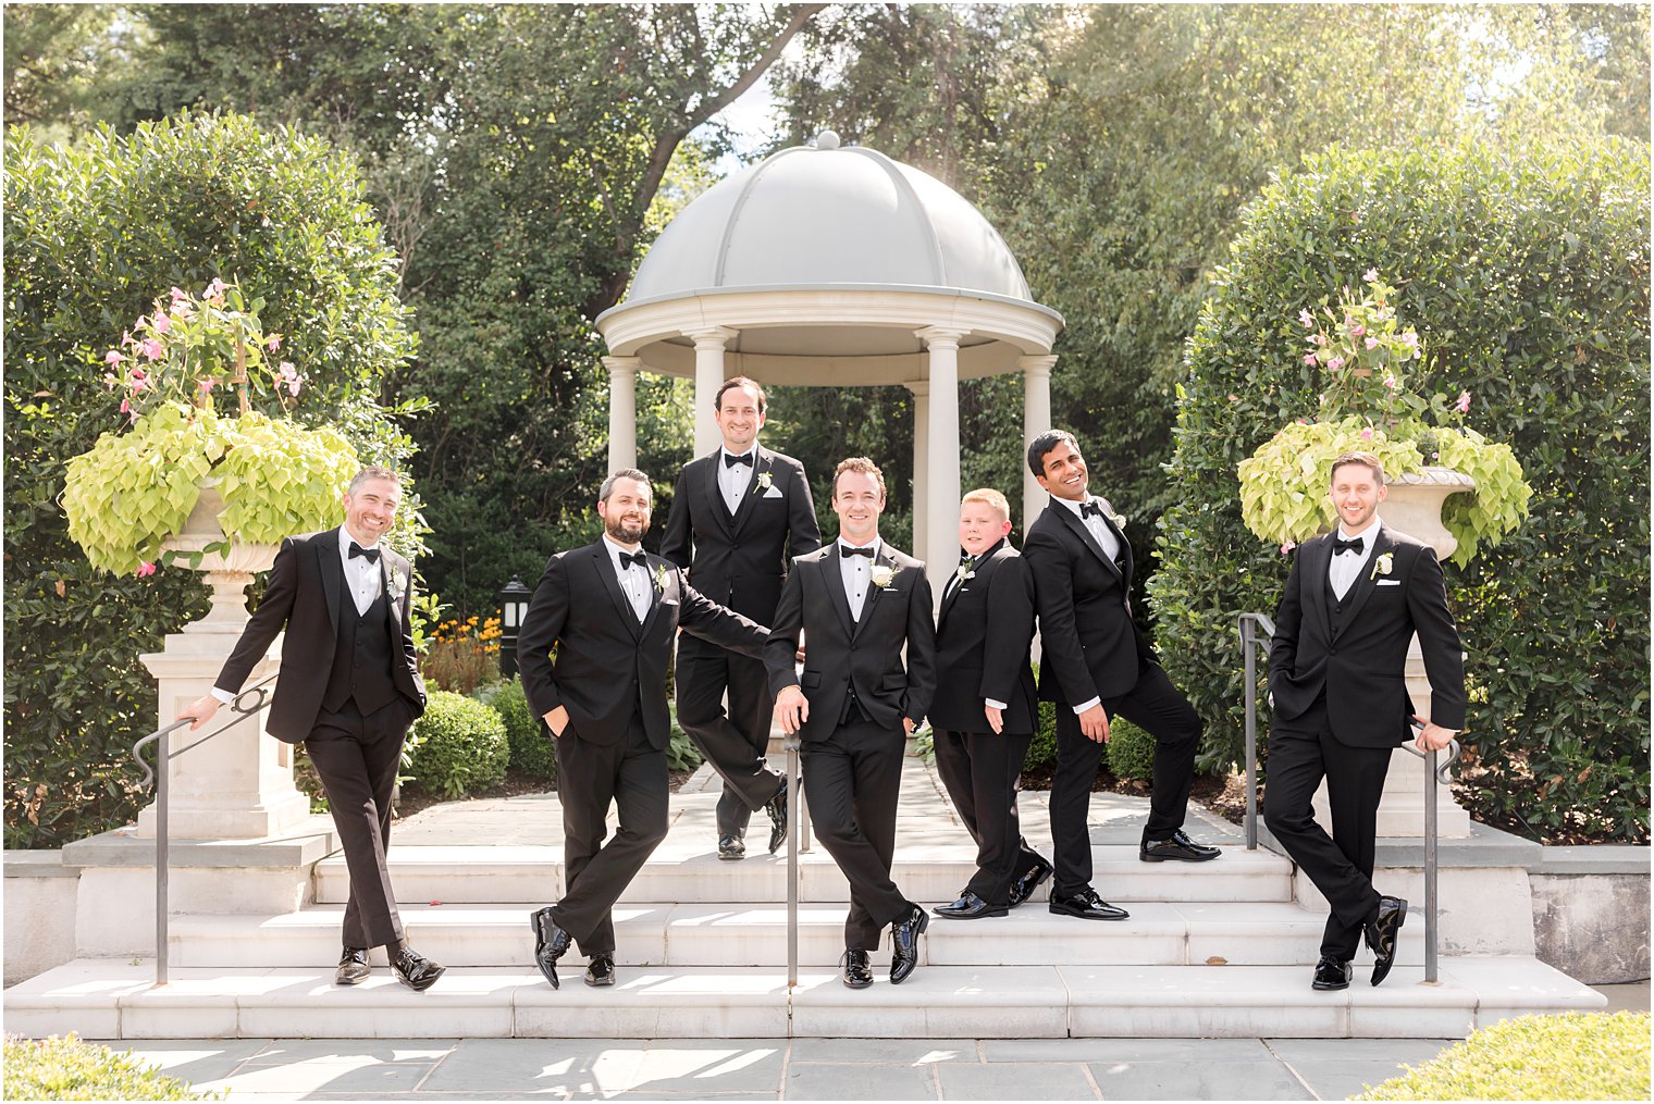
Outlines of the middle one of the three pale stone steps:
[{"label": "middle one of the three pale stone steps", "polygon": [[[528,904],[405,906],[409,940],[450,967],[533,968]],[[180,967],[318,967],[339,957],[342,906],[284,916],[179,916]],[[832,964],[844,950],[845,906],[799,911],[799,962]],[[1006,917],[931,917],[921,962],[931,965],[1313,965],[1325,917],[1277,902],[1145,902],[1121,922],[1054,916],[1040,904]],[[774,904],[633,904],[615,909],[622,962],[667,967],[784,967],[787,911]],[[888,944],[887,944],[888,947]],[[878,954],[888,955],[888,949]],[[579,959],[571,952],[571,962]],[[1424,926],[1401,929],[1399,962],[1424,962]]]}]

